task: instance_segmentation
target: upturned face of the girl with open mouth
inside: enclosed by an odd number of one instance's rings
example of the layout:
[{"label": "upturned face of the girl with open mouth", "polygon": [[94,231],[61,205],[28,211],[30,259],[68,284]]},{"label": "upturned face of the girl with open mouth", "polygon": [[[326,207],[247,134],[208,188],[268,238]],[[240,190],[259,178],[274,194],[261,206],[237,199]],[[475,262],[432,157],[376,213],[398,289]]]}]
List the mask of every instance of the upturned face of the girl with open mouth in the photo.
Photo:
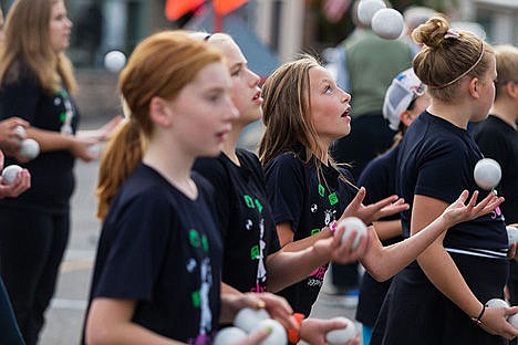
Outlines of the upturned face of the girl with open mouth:
[{"label": "upturned face of the girl with open mouth", "polygon": [[351,132],[351,95],[336,86],[331,73],[321,66],[309,70],[311,118],[321,138],[330,143]]}]

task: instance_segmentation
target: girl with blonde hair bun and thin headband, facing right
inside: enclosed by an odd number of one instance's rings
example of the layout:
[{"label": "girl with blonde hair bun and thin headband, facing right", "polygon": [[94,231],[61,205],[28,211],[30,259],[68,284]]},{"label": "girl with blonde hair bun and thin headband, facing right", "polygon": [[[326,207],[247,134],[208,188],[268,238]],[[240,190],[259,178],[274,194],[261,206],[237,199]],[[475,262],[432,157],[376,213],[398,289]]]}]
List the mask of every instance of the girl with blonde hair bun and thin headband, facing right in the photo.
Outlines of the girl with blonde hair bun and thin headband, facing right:
[{"label": "girl with blonde hair bun and thin headband, facing right", "polygon": [[[404,237],[419,233],[459,191],[477,189],[473,171],[483,154],[467,125],[487,117],[497,77],[493,48],[442,17],[413,38],[424,44],[413,69],[432,103],[400,145],[396,190],[411,205],[402,212]],[[450,227],[394,278],[371,344],[507,344],[518,330],[506,317],[518,307],[486,302],[504,299],[515,254],[498,208]]]}]

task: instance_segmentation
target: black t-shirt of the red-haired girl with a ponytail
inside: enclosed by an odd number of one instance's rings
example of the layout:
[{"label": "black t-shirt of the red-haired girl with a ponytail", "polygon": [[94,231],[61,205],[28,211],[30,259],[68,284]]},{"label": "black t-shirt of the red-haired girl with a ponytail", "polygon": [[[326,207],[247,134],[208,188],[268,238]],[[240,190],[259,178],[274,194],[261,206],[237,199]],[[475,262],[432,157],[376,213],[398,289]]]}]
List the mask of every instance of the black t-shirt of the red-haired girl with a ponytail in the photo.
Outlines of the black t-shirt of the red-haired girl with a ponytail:
[{"label": "black t-shirt of the red-haired girl with a ponytail", "polygon": [[135,300],[134,323],[207,344],[219,318],[222,249],[211,186],[193,178],[196,200],[151,167],[137,167],[104,221],[90,300]]}]

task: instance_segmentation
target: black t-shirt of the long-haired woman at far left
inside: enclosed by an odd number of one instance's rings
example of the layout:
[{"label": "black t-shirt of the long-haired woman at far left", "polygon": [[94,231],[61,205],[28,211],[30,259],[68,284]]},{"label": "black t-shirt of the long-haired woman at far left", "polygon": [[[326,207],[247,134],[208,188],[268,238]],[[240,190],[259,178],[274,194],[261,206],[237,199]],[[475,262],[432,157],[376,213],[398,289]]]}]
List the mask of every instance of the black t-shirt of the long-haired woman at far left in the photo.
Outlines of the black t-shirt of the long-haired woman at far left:
[{"label": "black t-shirt of the long-haired woman at far left", "polygon": [[[74,135],[79,112],[65,90],[49,94],[41,87],[30,67],[22,65],[19,82],[0,90],[0,119],[12,116],[28,121],[31,126]],[[4,166],[17,164],[31,172],[31,188],[17,198],[0,200],[0,207],[22,207],[51,212],[69,210],[74,190],[74,157],[68,150],[40,153],[29,163],[6,157]]]}]

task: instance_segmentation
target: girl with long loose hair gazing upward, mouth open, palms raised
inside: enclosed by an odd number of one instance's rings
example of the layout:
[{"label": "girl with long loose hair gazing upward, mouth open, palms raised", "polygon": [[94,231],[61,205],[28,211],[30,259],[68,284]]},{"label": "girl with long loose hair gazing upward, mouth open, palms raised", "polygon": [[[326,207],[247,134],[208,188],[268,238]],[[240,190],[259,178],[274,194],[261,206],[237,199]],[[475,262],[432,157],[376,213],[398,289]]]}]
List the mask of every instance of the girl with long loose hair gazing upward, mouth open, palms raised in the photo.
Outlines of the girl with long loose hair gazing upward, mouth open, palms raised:
[{"label": "girl with long loose hair gazing upward, mouth open, palms raised", "polygon": [[[332,237],[342,219],[353,216],[369,224],[367,234],[359,241],[359,250],[366,245],[359,259],[376,280],[384,281],[406,266],[447,228],[489,212],[503,201],[491,194],[475,207],[478,196],[475,191],[465,205],[468,191],[464,190],[436,216],[424,236],[383,247],[371,222],[405,210],[407,205],[394,195],[376,202],[394,201],[381,210],[375,205],[364,206],[365,188],[356,188],[349,171],[336,166],[329,155],[331,143],[351,130],[351,96],[310,55],[277,69],[266,81],[262,95],[266,132],[259,155],[284,251],[297,252]],[[294,310],[309,314],[327,269],[328,263],[280,294]]]}]

